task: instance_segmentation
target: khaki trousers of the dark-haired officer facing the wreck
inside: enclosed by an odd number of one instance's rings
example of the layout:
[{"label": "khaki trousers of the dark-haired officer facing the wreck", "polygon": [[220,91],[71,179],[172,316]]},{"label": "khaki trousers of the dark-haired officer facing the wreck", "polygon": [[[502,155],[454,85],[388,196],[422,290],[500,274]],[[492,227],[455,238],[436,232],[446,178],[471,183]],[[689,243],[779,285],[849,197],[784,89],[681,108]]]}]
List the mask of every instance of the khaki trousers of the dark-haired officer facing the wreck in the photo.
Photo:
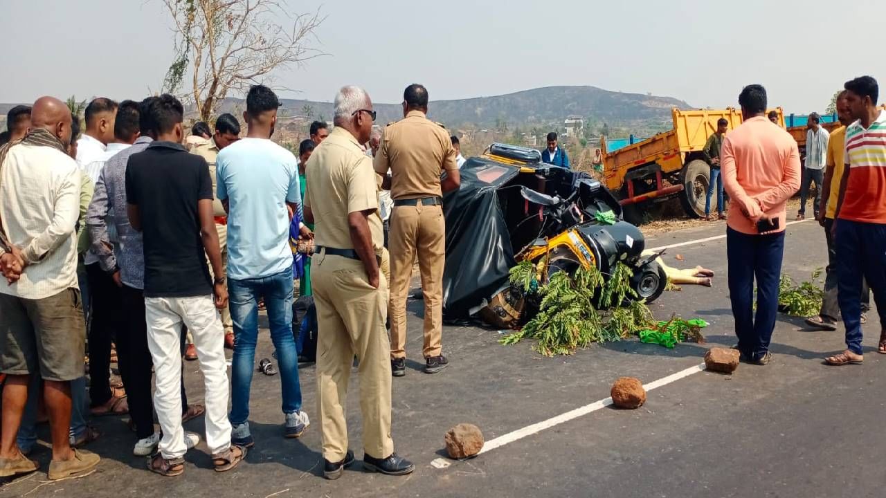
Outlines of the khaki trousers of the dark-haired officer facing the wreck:
[{"label": "khaki trousers of the dark-haired officer facing the wreck", "polygon": [[394,206],[391,214],[391,357],[406,357],[406,298],[418,256],[424,293],[424,357],[439,356],[443,335],[446,222],[440,206]]}]

